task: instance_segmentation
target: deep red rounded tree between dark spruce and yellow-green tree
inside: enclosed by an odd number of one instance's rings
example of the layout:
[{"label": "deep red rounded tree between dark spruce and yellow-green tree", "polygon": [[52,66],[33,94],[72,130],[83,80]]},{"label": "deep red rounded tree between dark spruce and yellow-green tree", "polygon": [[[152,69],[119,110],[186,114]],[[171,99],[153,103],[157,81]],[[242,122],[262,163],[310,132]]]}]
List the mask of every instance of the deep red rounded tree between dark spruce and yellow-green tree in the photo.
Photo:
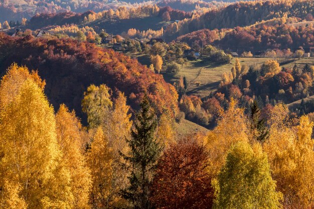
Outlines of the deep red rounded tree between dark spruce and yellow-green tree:
[{"label": "deep red rounded tree between dark spruce and yellow-green tree", "polygon": [[195,136],[170,145],[161,157],[152,184],[151,200],[157,208],[211,208],[213,188],[206,171],[206,148]]}]

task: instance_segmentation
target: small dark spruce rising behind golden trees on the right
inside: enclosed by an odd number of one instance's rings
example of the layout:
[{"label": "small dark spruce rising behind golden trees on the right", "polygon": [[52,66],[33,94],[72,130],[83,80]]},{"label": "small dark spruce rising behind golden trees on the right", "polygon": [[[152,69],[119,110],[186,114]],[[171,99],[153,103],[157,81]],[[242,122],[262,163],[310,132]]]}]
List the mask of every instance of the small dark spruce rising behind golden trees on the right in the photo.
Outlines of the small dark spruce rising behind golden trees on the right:
[{"label": "small dark spruce rising behind golden trees on the right", "polygon": [[269,132],[265,125],[265,119],[261,117],[261,110],[256,100],[250,106],[249,122],[251,140],[263,143],[268,138]]}]

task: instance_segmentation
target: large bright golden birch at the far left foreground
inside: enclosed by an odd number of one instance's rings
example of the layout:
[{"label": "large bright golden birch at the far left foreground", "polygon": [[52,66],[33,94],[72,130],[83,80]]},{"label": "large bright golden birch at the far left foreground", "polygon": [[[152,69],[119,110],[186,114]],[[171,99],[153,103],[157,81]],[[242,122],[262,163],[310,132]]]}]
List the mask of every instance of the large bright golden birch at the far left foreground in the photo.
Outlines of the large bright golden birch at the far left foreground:
[{"label": "large bright golden birch at the far left foreground", "polygon": [[43,91],[27,79],[0,117],[0,176],[22,186],[28,208],[71,208],[70,172],[61,161],[54,110]]}]

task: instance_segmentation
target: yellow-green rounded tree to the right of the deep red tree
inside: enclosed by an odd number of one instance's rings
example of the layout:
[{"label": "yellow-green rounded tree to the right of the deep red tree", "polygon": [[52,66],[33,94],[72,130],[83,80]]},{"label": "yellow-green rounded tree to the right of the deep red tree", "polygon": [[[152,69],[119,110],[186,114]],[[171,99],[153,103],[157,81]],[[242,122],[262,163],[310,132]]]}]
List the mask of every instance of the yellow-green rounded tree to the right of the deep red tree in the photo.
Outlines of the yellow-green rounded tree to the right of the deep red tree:
[{"label": "yellow-green rounded tree to the right of the deep red tree", "polygon": [[215,209],[279,209],[282,194],[271,178],[267,155],[256,144],[236,143],[229,151],[226,164],[213,181],[216,187]]}]

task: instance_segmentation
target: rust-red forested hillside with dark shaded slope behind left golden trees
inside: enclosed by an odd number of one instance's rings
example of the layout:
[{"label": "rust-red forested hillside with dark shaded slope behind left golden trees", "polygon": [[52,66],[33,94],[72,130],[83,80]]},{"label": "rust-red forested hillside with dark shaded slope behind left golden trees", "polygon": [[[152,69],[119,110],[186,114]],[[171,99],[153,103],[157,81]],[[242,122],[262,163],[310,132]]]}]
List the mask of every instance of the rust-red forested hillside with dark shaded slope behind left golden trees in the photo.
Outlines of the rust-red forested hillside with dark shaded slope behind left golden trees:
[{"label": "rust-red forested hillside with dark shaded slope behind left golden trees", "polygon": [[177,112],[177,93],[172,85],[136,60],[112,50],[71,39],[11,38],[0,33],[0,58],[2,75],[14,62],[39,70],[51,103],[56,108],[64,103],[80,116],[83,92],[90,84],[106,84],[113,93],[116,89],[124,92],[135,109],[147,92],[158,112]]}]

